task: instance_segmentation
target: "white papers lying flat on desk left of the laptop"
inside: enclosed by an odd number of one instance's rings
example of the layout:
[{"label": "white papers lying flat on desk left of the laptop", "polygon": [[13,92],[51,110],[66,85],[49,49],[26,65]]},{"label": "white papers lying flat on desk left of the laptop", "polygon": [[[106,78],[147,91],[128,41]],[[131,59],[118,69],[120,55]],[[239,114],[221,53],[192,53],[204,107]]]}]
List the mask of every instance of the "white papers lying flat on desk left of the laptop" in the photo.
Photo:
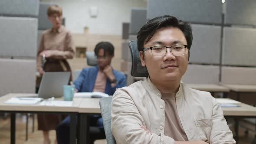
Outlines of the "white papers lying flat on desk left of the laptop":
[{"label": "white papers lying flat on desk left of the laptop", "polygon": [[42,101],[42,98],[10,98],[7,101],[4,101],[5,104],[27,104],[27,105],[32,105],[32,104],[36,104],[40,101]]}]

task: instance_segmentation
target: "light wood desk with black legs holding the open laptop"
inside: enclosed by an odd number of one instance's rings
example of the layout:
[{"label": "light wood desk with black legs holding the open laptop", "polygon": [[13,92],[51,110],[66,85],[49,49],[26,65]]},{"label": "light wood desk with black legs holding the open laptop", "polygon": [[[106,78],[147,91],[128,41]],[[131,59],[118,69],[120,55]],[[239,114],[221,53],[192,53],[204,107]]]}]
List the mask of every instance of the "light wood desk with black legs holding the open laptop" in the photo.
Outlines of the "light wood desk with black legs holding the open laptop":
[{"label": "light wood desk with black legs holding the open laptop", "polygon": [[[45,105],[21,105],[21,104],[5,104],[13,97],[29,97],[37,94],[17,94],[11,93],[0,97],[0,111],[9,112],[11,114],[11,144],[15,144],[15,120],[16,113],[57,113],[70,115],[70,144],[75,144],[76,141],[76,115],[78,114],[79,105],[82,98],[74,98],[72,106],[45,106]],[[56,100],[63,100],[63,98],[56,98]]]}]

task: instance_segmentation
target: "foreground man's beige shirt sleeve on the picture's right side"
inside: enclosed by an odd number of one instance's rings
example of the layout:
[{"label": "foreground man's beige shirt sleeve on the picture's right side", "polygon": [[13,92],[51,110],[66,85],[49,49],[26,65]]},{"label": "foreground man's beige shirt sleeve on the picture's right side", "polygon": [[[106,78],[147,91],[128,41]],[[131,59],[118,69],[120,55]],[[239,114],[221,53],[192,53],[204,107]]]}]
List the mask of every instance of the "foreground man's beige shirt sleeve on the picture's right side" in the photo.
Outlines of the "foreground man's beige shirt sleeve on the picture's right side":
[{"label": "foreground man's beige shirt sleeve on the picture's right side", "polygon": [[224,118],[223,111],[215,98],[213,98],[210,144],[236,144],[236,141],[233,139],[232,131],[230,131]]}]

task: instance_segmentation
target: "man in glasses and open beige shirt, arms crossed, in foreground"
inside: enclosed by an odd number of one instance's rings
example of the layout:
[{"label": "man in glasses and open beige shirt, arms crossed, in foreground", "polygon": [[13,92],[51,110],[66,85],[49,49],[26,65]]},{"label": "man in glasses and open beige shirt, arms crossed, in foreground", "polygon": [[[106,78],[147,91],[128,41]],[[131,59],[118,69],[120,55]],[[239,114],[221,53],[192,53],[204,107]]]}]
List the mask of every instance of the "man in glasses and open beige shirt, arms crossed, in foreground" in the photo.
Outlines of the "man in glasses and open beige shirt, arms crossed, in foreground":
[{"label": "man in glasses and open beige shirt, arms crossed, in foreground", "polygon": [[181,83],[193,39],[191,26],[159,16],[142,26],[137,39],[149,77],[119,88],[113,96],[117,144],[235,144],[215,98]]}]

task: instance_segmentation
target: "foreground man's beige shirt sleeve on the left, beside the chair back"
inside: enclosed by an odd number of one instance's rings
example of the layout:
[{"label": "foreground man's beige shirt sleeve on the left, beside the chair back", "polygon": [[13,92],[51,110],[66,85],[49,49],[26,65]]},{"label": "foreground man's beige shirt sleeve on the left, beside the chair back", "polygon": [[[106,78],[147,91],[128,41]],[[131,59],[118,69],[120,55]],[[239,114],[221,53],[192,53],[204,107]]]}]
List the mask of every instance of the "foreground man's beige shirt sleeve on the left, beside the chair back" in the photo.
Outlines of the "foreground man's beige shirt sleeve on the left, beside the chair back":
[{"label": "foreground man's beige shirt sleeve on the left, beside the chair back", "polygon": [[118,89],[111,106],[112,134],[117,144],[174,144],[163,133],[148,133],[141,128],[144,120],[134,101],[124,90]]}]

